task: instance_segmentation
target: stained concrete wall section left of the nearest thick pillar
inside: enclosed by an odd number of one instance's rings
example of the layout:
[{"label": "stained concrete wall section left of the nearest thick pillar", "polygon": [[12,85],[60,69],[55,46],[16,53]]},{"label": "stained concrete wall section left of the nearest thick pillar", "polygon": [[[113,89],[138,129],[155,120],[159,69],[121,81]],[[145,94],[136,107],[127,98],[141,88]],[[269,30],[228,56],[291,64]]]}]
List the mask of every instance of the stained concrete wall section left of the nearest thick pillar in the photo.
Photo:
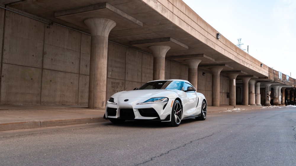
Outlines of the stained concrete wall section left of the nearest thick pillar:
[{"label": "stained concrete wall section left of the nearest thick pillar", "polygon": [[87,104],[89,35],[5,13],[0,103]]}]

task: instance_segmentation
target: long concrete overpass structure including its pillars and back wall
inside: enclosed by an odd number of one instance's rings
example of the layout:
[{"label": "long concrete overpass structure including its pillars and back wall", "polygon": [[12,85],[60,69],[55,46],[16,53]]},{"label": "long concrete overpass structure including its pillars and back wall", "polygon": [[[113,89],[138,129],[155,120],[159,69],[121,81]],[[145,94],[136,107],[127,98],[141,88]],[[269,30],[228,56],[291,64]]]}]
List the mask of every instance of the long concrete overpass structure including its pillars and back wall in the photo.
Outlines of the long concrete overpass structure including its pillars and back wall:
[{"label": "long concrete overpass structure including its pillars and back wall", "polygon": [[[1,104],[83,105],[87,101],[89,108],[104,108],[106,98],[114,92],[131,90],[152,79],[179,78],[192,82],[213,106],[235,102],[269,105],[269,91],[275,105],[283,104],[285,95],[281,98],[279,92],[284,88],[289,89],[286,96],[294,100],[295,92],[290,90],[295,89],[295,79],[287,80],[285,74],[239,49],[181,0],[2,0],[0,18],[2,77],[9,67],[18,72],[7,71],[7,75],[21,73],[24,67],[41,73],[36,76],[41,83],[30,83],[34,99],[28,101],[10,98],[16,94],[28,98],[30,85],[17,88],[23,91],[20,94],[12,90],[24,83],[19,77],[2,78]],[[44,38],[37,43],[43,43],[42,50],[32,46],[40,35]],[[19,37],[28,38],[30,48],[39,51],[40,65],[15,62],[29,56],[22,53],[27,50],[24,43],[17,42]],[[78,52],[79,57],[72,56]],[[74,86],[65,85],[69,74]],[[17,83],[10,85],[12,80]]]}]

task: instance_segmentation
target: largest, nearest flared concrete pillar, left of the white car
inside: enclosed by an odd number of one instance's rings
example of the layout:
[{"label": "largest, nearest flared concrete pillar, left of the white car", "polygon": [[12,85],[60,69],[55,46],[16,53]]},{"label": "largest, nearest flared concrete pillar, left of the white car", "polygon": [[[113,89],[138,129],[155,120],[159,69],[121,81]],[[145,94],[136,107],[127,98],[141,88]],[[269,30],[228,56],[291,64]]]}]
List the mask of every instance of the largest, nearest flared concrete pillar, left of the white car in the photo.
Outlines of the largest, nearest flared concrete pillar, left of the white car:
[{"label": "largest, nearest flared concrete pillar, left of the white car", "polygon": [[84,23],[91,31],[88,104],[89,108],[105,108],[108,36],[116,22],[105,18],[88,18]]}]

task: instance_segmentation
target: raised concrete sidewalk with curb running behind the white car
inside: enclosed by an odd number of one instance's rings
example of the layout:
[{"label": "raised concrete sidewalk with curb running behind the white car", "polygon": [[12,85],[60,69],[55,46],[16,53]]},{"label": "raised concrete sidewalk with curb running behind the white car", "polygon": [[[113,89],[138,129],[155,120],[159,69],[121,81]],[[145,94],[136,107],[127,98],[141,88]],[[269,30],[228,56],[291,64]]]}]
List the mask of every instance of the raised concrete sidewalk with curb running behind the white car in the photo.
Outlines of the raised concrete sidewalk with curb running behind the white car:
[{"label": "raised concrete sidewalk with curb running behind the white car", "polygon": [[[208,106],[207,113],[260,109],[264,106]],[[0,131],[107,122],[104,109],[86,105],[0,105]]]}]

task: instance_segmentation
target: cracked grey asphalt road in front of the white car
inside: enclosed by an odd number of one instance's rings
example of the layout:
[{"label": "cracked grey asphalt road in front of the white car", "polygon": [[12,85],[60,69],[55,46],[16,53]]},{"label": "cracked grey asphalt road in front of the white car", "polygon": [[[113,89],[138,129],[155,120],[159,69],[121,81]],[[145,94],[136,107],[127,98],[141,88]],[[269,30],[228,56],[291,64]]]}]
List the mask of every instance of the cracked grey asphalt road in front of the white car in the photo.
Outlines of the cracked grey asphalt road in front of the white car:
[{"label": "cracked grey asphalt road in front of the white car", "polygon": [[295,165],[296,108],[209,114],[179,127],[128,121],[19,131],[0,165]]}]

